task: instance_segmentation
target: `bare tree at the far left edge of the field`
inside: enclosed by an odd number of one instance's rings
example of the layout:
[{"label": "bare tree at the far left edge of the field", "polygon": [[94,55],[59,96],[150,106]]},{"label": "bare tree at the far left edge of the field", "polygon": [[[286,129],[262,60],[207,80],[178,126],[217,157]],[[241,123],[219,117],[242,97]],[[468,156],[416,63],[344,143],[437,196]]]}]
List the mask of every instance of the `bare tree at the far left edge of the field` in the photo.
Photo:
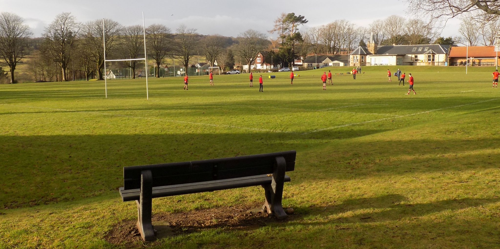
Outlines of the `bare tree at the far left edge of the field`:
[{"label": "bare tree at the far left edge of the field", "polygon": [[20,16],[9,12],[0,13],[0,60],[8,65],[10,83],[15,83],[17,62],[30,52],[28,39],[32,34]]}]

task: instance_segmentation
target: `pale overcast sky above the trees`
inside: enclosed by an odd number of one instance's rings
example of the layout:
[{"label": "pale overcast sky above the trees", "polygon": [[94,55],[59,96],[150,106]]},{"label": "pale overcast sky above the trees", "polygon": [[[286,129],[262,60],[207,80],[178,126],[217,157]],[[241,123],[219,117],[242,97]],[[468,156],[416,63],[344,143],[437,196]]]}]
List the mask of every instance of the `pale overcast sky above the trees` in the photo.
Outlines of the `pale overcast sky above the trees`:
[{"label": "pale overcast sky above the trees", "polygon": [[[61,12],[71,12],[80,22],[109,18],[122,25],[134,25],[142,24],[144,11],[146,26],[161,23],[175,31],[179,24],[185,24],[197,28],[200,34],[234,37],[249,28],[267,33],[281,12],[304,15],[309,22],[301,30],[336,19],[368,27],[373,20],[392,14],[425,18],[408,15],[404,0],[0,0],[0,6],[0,11],[23,17],[34,36],[40,36]],[[458,24],[459,20],[448,21],[441,36],[457,35]]]}]

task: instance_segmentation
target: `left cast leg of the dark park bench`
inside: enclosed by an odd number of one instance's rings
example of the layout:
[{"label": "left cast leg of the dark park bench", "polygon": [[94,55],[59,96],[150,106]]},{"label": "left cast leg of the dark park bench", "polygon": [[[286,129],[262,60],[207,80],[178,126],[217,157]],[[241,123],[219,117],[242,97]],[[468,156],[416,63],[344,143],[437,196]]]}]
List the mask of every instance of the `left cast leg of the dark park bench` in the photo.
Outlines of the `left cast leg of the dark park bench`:
[{"label": "left cast leg of the dark park bench", "polygon": [[154,241],[153,226],[151,224],[152,205],[152,175],[150,170],[140,172],[140,198],[137,204],[137,229],[143,241]]}]

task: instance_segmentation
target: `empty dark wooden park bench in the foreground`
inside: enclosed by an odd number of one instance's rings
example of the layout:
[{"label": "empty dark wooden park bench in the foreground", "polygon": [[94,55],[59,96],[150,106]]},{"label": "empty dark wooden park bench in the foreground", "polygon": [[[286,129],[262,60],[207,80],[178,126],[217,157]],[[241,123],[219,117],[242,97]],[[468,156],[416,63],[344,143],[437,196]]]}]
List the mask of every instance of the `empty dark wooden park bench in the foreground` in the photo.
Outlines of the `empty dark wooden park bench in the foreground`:
[{"label": "empty dark wooden park bench in the foreground", "polygon": [[151,224],[152,198],[210,192],[250,186],[264,188],[262,209],[278,219],[286,218],[281,207],[285,171],[295,167],[295,151],[228,157],[180,163],[123,167],[124,202],[137,204],[137,229],[144,241],[155,240]]}]

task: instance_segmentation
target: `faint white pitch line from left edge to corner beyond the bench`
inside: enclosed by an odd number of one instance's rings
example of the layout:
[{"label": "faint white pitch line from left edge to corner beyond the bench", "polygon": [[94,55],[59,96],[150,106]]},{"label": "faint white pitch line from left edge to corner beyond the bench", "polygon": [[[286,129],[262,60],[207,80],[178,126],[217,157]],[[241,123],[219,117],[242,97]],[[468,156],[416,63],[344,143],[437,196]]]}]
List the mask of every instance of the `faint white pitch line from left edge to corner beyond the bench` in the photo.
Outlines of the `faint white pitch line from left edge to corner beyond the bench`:
[{"label": "faint white pitch line from left edge to corner beyond the bench", "polygon": [[242,129],[242,130],[254,130],[254,131],[266,131],[266,132],[291,133],[289,131],[273,131],[273,130],[250,128],[250,127],[239,127],[239,126],[233,126],[233,125],[217,125],[217,124],[207,124],[207,123],[201,123],[201,122],[178,121],[178,120],[168,120],[168,119],[148,118],[148,117],[136,117],[136,116],[130,116],[130,115],[121,115],[121,114],[113,114],[113,113],[105,113],[105,112],[74,111],[74,110],[67,110],[67,109],[47,108],[47,107],[38,107],[38,106],[26,106],[26,105],[11,105],[11,104],[3,104],[3,105],[17,106],[17,107],[27,107],[27,108],[37,108],[37,109],[54,110],[54,111],[68,111],[68,112],[92,113],[92,114],[100,114],[100,115],[115,116],[115,117],[134,118],[134,119],[146,119],[146,120],[172,122],[172,123],[181,123],[181,124],[205,125],[205,126],[212,126],[212,127],[235,128],[235,129]]}]

